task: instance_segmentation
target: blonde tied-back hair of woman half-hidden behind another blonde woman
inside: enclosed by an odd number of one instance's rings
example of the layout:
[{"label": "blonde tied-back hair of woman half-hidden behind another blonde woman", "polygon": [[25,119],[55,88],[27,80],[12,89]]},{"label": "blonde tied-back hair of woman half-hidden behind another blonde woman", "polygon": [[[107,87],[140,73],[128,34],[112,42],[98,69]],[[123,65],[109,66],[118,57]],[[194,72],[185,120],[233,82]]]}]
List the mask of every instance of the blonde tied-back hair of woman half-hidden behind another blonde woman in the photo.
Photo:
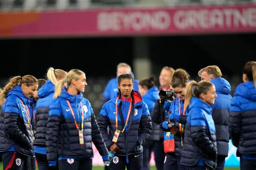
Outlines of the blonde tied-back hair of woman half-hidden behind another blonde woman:
[{"label": "blonde tied-back hair of woman half-hidden behind another blonde woman", "polygon": [[56,85],[58,83],[57,79],[64,79],[67,76],[67,71],[61,69],[54,69],[50,67],[47,71],[47,78]]}]

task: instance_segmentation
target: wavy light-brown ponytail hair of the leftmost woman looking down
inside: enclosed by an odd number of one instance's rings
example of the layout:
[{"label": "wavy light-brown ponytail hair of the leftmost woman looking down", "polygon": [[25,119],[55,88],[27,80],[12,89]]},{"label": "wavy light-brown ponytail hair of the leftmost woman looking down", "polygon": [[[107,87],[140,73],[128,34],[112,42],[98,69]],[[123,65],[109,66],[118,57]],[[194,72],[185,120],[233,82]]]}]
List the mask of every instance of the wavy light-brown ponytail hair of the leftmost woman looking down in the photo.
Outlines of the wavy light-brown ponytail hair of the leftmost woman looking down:
[{"label": "wavy light-brown ponytail hair of the leftmost woman looking down", "polygon": [[6,83],[5,87],[3,88],[3,91],[0,94],[0,99],[5,100],[6,94],[8,91],[12,91],[12,89],[16,85],[22,85],[26,84],[28,87],[33,85],[34,83],[38,84],[37,79],[32,75],[26,75],[26,76],[16,76],[9,79],[9,81]]}]

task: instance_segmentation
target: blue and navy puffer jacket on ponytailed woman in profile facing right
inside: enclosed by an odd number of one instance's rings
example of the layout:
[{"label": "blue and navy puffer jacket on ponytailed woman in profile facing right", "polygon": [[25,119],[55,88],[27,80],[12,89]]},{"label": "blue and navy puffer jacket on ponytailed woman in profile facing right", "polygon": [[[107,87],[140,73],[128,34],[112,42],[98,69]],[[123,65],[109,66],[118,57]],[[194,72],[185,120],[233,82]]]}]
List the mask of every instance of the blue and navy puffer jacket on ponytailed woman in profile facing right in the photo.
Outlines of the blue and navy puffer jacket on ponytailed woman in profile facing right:
[{"label": "blue and navy puffer jacket on ponytailed woman in profile facing right", "polygon": [[192,97],[186,111],[188,111],[188,117],[180,164],[194,166],[201,160],[211,170],[215,170],[217,144],[212,107],[201,99]]}]

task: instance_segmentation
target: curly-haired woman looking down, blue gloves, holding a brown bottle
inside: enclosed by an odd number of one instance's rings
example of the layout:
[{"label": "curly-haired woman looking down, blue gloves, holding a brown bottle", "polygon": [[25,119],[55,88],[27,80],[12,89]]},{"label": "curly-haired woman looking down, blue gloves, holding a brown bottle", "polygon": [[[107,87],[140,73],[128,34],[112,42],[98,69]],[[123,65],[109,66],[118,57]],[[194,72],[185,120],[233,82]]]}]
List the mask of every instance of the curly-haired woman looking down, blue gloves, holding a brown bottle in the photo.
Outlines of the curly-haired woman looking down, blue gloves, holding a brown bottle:
[{"label": "curly-haired woman looking down, blue gloves, holding a brown bottle", "polygon": [[168,117],[165,121],[160,124],[160,127],[170,132],[169,121],[175,120],[175,125],[177,129],[177,133],[174,135],[175,141],[175,154],[177,156],[177,167],[178,170],[185,170],[186,167],[180,164],[181,157],[181,149],[183,147],[183,139],[184,139],[184,125],[186,125],[187,112],[184,110],[184,105],[186,102],[186,89],[189,84],[189,74],[181,68],[175,70],[171,85],[172,90],[177,96],[172,100],[172,103],[169,108]]}]

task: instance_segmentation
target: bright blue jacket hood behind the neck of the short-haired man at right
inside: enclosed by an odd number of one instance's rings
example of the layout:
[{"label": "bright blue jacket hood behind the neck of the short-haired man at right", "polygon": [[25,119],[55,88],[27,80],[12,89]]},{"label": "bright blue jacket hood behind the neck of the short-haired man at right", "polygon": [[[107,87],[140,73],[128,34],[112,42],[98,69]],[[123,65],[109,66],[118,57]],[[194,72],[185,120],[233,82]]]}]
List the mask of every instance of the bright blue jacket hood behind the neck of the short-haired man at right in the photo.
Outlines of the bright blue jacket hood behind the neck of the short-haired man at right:
[{"label": "bright blue jacket hood behind the neck of the short-haired man at right", "polygon": [[210,82],[212,82],[215,85],[216,91],[218,91],[221,94],[230,94],[231,92],[231,86],[230,83],[224,79],[224,78],[215,78],[212,79]]}]

